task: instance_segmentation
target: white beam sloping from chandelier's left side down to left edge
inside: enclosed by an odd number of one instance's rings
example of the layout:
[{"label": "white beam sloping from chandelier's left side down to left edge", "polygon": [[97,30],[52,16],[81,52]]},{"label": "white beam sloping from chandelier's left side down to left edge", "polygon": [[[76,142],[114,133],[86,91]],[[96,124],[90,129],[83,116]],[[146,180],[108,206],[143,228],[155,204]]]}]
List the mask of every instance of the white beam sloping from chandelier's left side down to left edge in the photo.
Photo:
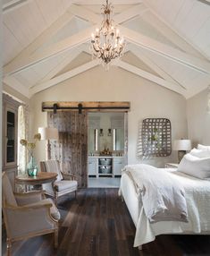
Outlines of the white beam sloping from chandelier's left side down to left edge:
[{"label": "white beam sloping from chandelier's left side down to left edge", "polygon": [[35,52],[33,55],[29,55],[28,57],[21,59],[21,63],[15,62],[13,65],[8,64],[4,66],[4,75],[13,75],[14,73],[19,73],[34,64],[45,61],[47,58],[63,53],[71,48],[80,46],[89,40],[93,30],[96,30],[95,26],[82,30],[69,38],[64,38],[63,40],[43,49],[42,51]]}]

